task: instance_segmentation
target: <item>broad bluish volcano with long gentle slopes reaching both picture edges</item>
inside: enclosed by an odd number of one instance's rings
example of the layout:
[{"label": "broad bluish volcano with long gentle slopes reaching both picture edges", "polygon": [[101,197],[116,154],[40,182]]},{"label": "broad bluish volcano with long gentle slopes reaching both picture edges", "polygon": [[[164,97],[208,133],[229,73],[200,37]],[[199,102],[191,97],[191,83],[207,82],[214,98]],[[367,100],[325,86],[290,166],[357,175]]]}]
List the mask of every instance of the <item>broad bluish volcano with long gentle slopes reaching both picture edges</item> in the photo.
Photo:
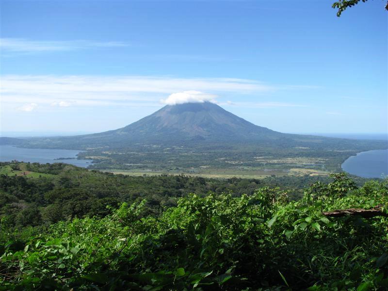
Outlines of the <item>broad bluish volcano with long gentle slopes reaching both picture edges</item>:
[{"label": "broad bluish volcano with long gentle slopes reaching both picture edges", "polygon": [[[23,140],[1,139],[2,144],[22,147],[83,149],[104,152],[120,149],[125,154],[147,148],[184,147],[189,152],[206,152],[214,148],[262,152],[279,156],[332,155],[333,151],[386,148],[386,143],[281,133],[254,125],[211,102],[166,105],[151,115],[126,127],[100,133],[40,137]],[[139,150],[140,149],[140,150]],[[303,152],[303,153],[302,153]],[[312,153],[314,152],[314,153]],[[318,154],[319,152],[319,154]],[[121,159],[122,157],[120,157]]]}]

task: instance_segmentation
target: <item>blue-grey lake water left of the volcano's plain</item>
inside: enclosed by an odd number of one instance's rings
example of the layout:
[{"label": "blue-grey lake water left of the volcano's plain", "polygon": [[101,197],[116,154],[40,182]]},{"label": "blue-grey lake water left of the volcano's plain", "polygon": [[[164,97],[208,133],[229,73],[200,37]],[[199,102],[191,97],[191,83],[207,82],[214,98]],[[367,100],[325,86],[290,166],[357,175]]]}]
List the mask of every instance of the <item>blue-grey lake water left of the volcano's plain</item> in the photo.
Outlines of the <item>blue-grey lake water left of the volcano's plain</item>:
[{"label": "blue-grey lake water left of the volcano's plain", "polygon": [[[54,163],[64,162],[78,167],[88,167],[92,160],[77,160],[80,150],[71,149],[44,149],[44,148],[21,148],[16,146],[0,146],[0,162],[39,162]],[[56,160],[59,158],[72,158]]]}]

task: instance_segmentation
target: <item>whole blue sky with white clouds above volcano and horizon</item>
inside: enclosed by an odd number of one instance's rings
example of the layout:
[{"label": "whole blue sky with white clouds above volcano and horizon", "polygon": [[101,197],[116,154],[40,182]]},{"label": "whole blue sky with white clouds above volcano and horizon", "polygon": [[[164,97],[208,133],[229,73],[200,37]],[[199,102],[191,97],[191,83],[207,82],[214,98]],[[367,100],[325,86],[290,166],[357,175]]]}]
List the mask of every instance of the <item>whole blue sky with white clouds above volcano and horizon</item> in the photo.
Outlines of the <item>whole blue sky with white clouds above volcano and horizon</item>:
[{"label": "whole blue sky with white clouds above volcano and horizon", "polygon": [[1,131],[116,129],[195,91],[282,132],[387,132],[384,1],[331,3],[1,0]]}]

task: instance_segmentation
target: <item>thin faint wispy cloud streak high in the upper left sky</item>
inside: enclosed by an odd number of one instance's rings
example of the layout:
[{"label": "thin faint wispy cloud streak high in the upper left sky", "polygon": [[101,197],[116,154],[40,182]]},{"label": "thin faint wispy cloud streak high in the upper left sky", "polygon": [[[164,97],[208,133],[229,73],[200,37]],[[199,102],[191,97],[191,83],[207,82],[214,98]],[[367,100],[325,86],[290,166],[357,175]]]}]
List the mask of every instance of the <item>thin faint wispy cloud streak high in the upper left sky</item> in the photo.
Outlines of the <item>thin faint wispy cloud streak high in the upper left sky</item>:
[{"label": "thin faint wispy cloud streak high in the upper left sky", "polygon": [[9,52],[68,51],[88,48],[126,47],[124,42],[97,42],[90,40],[38,41],[24,38],[1,38],[0,47]]}]

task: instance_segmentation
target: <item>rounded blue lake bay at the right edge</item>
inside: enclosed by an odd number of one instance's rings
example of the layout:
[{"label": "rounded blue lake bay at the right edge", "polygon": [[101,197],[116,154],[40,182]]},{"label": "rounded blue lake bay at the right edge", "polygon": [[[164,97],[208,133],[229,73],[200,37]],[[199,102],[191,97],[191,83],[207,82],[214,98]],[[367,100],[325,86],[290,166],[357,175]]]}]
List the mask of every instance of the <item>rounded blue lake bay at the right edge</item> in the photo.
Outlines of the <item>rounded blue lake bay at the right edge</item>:
[{"label": "rounded blue lake bay at the right edge", "polygon": [[358,153],[341,165],[342,170],[364,178],[388,176],[388,149],[370,150]]}]

